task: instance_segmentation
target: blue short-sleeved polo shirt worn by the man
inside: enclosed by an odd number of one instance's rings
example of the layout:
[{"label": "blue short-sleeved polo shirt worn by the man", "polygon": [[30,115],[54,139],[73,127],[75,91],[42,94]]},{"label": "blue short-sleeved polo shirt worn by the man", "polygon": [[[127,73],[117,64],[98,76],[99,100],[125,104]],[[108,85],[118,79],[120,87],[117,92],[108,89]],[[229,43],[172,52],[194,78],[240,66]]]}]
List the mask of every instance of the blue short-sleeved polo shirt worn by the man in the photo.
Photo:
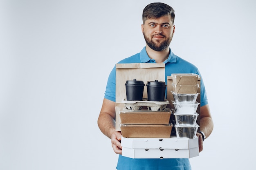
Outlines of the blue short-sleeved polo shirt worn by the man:
[{"label": "blue short-sleeved polo shirt worn by the man", "polygon": [[[155,63],[154,59],[151,59],[144,47],[140,53],[125,58],[118,63]],[[177,55],[173,54],[170,49],[170,55],[165,63],[165,81],[167,82],[167,76],[172,73],[195,73],[201,78],[200,84],[200,105],[204,106],[208,104],[204,83],[202,76],[198,71],[198,68],[193,64],[183,60]],[[116,68],[114,67],[108,77],[106,86],[105,97],[115,102],[116,91]],[[189,159],[132,159],[119,155],[117,170],[191,170]]]}]

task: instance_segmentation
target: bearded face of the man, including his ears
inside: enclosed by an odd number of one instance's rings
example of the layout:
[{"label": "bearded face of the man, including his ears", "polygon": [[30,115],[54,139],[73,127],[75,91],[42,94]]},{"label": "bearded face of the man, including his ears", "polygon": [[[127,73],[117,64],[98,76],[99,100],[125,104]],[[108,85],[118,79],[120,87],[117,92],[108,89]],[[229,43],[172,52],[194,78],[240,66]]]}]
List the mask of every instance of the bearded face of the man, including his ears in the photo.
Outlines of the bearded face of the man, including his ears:
[{"label": "bearded face of the man, including his ears", "polygon": [[173,38],[175,26],[170,15],[156,19],[148,19],[141,25],[141,30],[147,45],[155,51],[167,49]]}]

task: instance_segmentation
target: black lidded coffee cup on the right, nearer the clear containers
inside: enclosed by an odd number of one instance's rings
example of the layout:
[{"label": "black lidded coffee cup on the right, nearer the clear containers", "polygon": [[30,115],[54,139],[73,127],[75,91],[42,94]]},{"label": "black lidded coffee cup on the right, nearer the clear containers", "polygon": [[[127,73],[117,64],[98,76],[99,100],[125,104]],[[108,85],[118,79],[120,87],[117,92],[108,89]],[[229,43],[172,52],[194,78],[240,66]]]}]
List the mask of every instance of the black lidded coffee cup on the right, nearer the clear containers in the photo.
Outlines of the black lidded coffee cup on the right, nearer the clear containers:
[{"label": "black lidded coffee cup on the right, nearer the clear containers", "polygon": [[158,80],[148,81],[148,84],[146,84],[146,86],[148,93],[148,101],[164,102],[166,89],[165,82],[158,82]]}]

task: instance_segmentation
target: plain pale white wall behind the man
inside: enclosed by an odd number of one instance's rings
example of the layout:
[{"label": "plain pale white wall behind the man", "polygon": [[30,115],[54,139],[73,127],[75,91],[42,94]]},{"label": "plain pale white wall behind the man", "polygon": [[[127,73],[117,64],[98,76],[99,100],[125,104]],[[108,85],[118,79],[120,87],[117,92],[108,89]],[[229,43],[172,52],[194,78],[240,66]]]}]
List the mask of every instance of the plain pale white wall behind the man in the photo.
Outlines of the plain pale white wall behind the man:
[{"label": "plain pale white wall behind the man", "polygon": [[[97,118],[110,70],[145,45],[150,2],[0,1],[1,170],[115,169]],[[215,125],[192,168],[252,169],[256,3],[161,2],[175,9],[171,49],[200,69]]]}]

